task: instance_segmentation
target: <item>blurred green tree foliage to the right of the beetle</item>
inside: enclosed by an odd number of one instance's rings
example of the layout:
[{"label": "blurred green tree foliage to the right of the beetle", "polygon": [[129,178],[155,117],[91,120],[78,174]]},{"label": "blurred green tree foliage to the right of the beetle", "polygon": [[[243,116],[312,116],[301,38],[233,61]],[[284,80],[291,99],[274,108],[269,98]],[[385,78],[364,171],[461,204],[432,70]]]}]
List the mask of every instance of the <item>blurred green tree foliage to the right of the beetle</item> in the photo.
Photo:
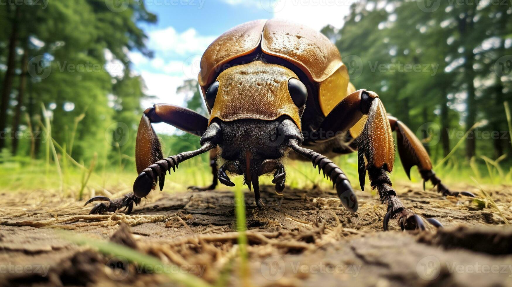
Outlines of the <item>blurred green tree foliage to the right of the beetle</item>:
[{"label": "blurred green tree foliage to the right of the beetle", "polygon": [[[322,32],[336,39],[357,89],[377,92],[387,111],[413,131],[436,123],[439,144],[427,147],[435,158],[446,156],[459,141],[454,135],[477,121],[478,154],[497,158],[512,152],[503,109],[512,96],[512,75],[498,77],[495,71],[500,57],[511,52],[505,47],[511,40],[510,3],[441,1],[425,12],[421,7],[430,1],[425,2],[360,1],[342,29]],[[484,131],[499,136],[478,136]],[[465,140],[459,158],[474,155],[472,141]]]}]

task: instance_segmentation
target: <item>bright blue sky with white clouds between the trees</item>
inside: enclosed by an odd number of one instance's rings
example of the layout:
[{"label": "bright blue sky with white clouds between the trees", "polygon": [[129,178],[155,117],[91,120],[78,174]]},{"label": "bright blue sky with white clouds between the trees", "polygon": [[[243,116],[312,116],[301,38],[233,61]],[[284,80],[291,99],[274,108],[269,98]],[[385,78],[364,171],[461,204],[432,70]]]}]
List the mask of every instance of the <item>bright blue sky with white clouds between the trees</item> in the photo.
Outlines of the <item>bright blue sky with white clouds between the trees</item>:
[{"label": "bright blue sky with white clouds between the trees", "polygon": [[[355,0],[143,0],[158,16],[156,25],[141,25],[148,35],[147,46],[155,52],[148,59],[131,52],[133,70],[142,75],[146,93],[156,98],[143,100],[143,108],[157,103],[183,105],[190,95],[176,89],[187,78],[197,79],[199,61],[208,45],[230,28],[254,19],[286,18],[314,29],[327,24],[343,25]],[[174,128],[158,124],[158,132]]]}]

